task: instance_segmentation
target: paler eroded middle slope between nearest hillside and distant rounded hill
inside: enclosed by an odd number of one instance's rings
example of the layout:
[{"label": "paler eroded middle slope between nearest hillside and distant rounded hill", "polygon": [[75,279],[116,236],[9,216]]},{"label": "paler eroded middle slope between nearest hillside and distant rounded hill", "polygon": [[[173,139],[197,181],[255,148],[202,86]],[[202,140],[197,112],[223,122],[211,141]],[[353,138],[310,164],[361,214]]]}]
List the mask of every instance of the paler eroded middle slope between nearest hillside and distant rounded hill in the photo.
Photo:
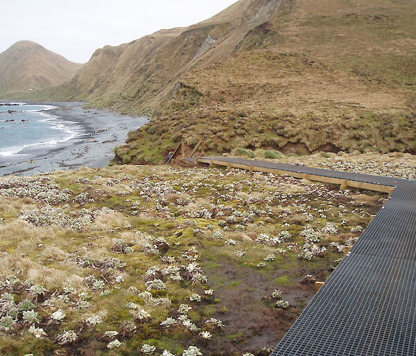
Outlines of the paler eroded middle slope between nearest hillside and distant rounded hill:
[{"label": "paler eroded middle slope between nearest hillside and distant rounded hill", "polygon": [[121,46],[105,46],[61,91],[94,106],[150,113],[180,75],[233,53],[245,35],[266,21],[280,3],[240,0],[200,24],[160,30]]}]

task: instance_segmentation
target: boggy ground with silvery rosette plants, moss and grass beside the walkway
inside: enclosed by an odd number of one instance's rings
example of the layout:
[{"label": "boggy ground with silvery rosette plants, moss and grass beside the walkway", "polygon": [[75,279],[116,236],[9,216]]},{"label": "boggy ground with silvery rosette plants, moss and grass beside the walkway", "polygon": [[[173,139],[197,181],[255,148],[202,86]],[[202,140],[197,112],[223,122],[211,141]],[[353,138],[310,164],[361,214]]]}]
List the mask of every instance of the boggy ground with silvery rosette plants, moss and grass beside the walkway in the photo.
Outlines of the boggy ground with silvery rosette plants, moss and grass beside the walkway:
[{"label": "boggy ground with silvery rosette plants, moss and grass beside the walkway", "polygon": [[238,170],[0,179],[0,353],[266,355],[384,197]]}]

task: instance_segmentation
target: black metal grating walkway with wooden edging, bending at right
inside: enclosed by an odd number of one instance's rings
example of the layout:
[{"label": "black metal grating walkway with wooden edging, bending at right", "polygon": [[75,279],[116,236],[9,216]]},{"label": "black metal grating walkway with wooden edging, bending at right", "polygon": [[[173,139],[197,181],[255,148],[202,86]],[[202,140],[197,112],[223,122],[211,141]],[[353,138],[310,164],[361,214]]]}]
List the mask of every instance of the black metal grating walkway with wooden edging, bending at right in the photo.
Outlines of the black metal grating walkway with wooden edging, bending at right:
[{"label": "black metal grating walkway with wooden edging, bending at right", "polygon": [[233,157],[200,159],[396,187],[271,356],[416,355],[416,181]]}]

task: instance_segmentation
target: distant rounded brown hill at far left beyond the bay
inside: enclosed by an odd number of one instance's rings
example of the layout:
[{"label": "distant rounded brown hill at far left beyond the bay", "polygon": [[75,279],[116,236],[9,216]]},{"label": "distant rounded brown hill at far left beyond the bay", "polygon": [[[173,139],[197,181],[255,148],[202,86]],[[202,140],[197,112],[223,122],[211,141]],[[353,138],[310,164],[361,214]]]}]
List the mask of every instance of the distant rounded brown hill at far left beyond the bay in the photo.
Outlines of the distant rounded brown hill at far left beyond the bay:
[{"label": "distant rounded brown hill at far left beyond the bay", "polygon": [[36,91],[67,82],[81,66],[35,42],[17,42],[0,53],[0,98],[31,98]]}]

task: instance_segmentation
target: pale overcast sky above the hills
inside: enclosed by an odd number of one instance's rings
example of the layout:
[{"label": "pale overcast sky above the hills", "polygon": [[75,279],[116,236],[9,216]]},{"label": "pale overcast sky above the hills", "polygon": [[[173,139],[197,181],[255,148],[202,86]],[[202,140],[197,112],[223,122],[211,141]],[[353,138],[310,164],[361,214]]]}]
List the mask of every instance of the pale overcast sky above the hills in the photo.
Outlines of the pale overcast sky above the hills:
[{"label": "pale overcast sky above the hills", "polygon": [[0,0],[0,53],[29,39],[73,62],[162,28],[195,24],[236,0]]}]

